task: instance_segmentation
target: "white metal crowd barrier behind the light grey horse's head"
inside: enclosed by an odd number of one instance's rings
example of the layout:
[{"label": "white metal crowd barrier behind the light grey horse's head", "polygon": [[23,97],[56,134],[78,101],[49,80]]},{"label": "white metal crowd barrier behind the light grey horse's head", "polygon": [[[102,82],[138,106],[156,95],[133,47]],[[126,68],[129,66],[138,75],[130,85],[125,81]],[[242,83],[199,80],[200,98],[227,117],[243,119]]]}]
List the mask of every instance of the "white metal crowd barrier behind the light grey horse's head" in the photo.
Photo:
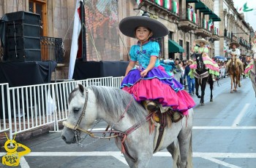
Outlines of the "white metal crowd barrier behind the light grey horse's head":
[{"label": "white metal crowd barrier behind the light grey horse's head", "polygon": [[0,132],[15,134],[53,124],[59,131],[59,122],[67,119],[68,96],[78,84],[120,87],[121,77],[104,77],[80,81],[62,81],[23,87],[0,84]]}]

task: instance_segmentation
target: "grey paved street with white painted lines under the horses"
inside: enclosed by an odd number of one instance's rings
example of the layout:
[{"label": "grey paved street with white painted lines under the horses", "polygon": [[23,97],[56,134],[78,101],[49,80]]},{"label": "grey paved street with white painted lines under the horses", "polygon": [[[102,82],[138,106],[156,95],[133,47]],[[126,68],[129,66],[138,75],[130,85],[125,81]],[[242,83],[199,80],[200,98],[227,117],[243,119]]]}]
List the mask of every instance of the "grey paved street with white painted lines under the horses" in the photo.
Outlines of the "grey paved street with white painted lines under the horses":
[{"label": "grey paved street with white painted lines under the horses", "polygon": [[[209,87],[206,87],[206,103],[198,105],[194,98],[195,119],[193,127],[193,164],[196,168],[254,168],[256,163],[256,98],[249,79],[241,81],[238,92],[230,93],[230,79],[221,79],[219,87],[214,84],[214,102],[210,103]],[[101,122],[98,128],[105,127]],[[94,142],[95,141],[95,142]],[[87,145],[67,145],[61,133],[49,133],[22,142],[31,149],[21,158],[22,168],[46,167],[128,167],[113,140],[86,138]],[[5,154],[1,148],[0,156]],[[0,164],[0,167],[5,167]],[[156,153],[149,168],[172,167],[167,151]]]}]

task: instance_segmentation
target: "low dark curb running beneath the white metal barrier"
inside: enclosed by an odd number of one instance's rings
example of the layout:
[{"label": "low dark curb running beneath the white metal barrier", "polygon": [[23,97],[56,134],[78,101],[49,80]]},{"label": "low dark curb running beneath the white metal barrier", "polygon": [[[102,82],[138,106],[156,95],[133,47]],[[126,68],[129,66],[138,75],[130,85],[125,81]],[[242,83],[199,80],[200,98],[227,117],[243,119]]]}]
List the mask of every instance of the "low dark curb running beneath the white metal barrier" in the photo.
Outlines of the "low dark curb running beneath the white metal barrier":
[{"label": "low dark curb running beneath the white metal barrier", "polygon": [[[63,129],[63,124],[62,122],[59,123],[59,129]],[[30,140],[33,137],[38,137],[40,135],[43,135],[45,133],[48,133],[49,131],[54,131],[54,124],[48,124],[42,127],[38,127],[36,129],[31,129],[26,132],[21,132],[18,135],[15,136],[15,141],[16,142],[23,142],[24,140]],[[7,138],[4,137],[0,139],[0,147],[4,146],[4,143],[7,141]]]}]

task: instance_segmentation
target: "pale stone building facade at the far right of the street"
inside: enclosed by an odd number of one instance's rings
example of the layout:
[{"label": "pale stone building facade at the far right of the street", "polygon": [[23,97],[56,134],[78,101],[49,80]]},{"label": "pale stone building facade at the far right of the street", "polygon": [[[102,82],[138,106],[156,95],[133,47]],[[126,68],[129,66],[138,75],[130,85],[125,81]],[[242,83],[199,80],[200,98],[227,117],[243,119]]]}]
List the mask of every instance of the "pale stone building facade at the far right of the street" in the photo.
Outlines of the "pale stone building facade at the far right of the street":
[{"label": "pale stone building facade at the far right of the street", "polygon": [[220,39],[215,43],[215,55],[224,55],[228,57],[226,52],[232,41],[240,44],[241,55],[246,55],[250,51],[250,39],[253,36],[253,28],[246,23],[244,14],[238,13],[234,7],[233,0],[216,0],[215,11],[219,12],[222,21],[219,22]]}]

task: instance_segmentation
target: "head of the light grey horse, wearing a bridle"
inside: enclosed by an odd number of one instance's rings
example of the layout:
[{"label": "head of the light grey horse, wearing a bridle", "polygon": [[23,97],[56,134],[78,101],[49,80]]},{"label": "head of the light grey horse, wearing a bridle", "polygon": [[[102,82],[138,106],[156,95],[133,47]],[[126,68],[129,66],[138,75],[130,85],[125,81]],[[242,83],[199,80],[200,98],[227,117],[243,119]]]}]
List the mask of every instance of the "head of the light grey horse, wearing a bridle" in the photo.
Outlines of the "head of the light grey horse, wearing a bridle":
[{"label": "head of the light grey horse, wearing a bridle", "polygon": [[[96,107],[92,107],[91,102],[96,102],[95,97],[88,95],[91,90],[87,90],[83,85],[78,84],[78,88],[74,89],[68,98],[69,102],[69,116],[67,121],[64,121],[64,129],[61,138],[66,143],[78,143],[80,140],[79,135],[85,135],[85,132],[79,132],[79,129],[87,130],[95,119],[97,114],[94,113]],[[94,110],[93,110],[94,109]]]}]

